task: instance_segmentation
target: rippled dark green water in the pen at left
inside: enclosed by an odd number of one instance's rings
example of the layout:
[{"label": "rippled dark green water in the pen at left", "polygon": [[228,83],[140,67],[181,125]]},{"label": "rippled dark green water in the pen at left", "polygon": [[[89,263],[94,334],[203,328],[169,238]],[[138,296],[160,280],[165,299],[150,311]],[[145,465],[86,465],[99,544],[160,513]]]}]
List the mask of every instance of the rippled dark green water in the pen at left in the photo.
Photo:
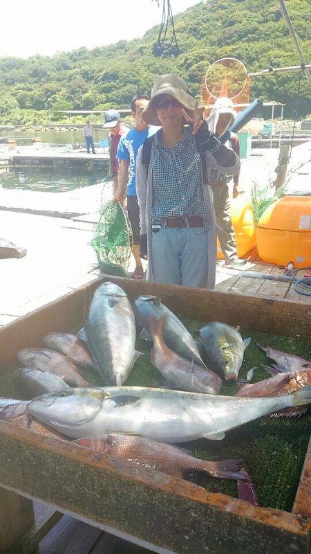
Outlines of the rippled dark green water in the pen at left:
[{"label": "rippled dark green water in the pen at left", "polygon": [[0,172],[1,188],[66,193],[68,190],[95,185],[105,179],[103,169],[87,168],[6,168]]}]

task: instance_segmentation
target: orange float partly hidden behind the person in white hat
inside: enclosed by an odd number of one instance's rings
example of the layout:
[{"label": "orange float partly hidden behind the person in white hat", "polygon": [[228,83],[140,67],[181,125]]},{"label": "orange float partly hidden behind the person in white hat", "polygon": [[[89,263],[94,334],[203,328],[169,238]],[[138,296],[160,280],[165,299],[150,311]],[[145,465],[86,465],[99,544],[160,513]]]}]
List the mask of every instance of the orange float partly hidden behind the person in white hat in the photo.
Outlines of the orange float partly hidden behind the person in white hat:
[{"label": "orange float partly hidden behind the person in white hat", "polygon": [[[249,202],[245,203],[245,197],[238,195],[232,199],[231,204],[232,225],[234,235],[236,237],[236,249],[238,256],[245,254],[255,247],[255,225],[253,217],[253,207]],[[219,240],[217,239],[217,258],[223,260],[223,252],[220,249]]]}]

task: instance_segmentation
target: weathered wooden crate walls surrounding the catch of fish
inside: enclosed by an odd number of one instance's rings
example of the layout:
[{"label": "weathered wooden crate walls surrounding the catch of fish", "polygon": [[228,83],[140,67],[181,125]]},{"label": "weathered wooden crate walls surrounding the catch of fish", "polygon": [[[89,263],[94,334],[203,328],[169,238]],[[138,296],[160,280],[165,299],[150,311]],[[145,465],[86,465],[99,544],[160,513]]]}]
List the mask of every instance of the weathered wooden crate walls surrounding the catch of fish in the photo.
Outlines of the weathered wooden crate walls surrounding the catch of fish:
[{"label": "weathered wooden crate walls surrounding the catch of fish", "polygon": [[[48,332],[68,332],[82,325],[102,280],[1,329],[0,368],[13,367],[17,351],[39,346]],[[218,319],[237,325],[242,320],[249,330],[310,336],[309,305],[126,278],[109,280],[120,284],[131,299],[156,294],[174,312],[197,321]],[[0,492],[0,516],[7,512],[4,497],[12,507],[4,530],[0,517],[0,551],[1,539],[10,546],[9,528],[12,535],[14,530],[12,543],[31,523],[31,502],[14,508],[16,493],[46,501],[61,512],[163,554],[307,554],[310,548],[311,446],[291,513],[255,508],[8,422],[0,422],[0,485],[6,488]]]}]

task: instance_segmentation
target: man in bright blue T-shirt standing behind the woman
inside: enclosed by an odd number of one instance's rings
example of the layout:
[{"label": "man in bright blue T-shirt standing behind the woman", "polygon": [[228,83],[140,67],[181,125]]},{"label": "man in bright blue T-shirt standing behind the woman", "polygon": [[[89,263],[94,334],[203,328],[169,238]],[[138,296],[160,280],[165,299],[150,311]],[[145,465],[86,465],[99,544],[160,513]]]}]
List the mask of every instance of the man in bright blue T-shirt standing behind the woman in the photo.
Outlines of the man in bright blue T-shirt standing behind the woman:
[{"label": "man in bright blue T-shirt standing behind the woman", "polygon": [[150,127],[142,119],[142,111],[147,107],[149,96],[138,94],[131,102],[131,114],[135,119],[135,127],[123,135],[117,148],[117,158],[120,161],[119,179],[114,202],[123,202],[127,183],[127,211],[133,230],[133,256],[135,258],[135,271],[133,278],[141,279],[144,274],[142,260],[140,259],[140,208],[136,194],[136,157],[138,149],[148,136],[157,129]]}]

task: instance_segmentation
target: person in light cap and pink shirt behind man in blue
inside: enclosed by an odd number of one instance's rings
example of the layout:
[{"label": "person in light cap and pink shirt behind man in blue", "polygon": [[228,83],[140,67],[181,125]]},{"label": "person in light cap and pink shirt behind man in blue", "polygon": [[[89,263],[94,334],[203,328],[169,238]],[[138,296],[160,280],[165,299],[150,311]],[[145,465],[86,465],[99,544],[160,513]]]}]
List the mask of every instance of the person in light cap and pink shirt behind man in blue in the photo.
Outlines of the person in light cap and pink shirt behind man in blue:
[{"label": "person in light cap and pink shirt behind man in blue", "polygon": [[[118,161],[117,161],[117,147],[120,143],[122,134],[129,132],[129,128],[125,127],[121,123],[121,116],[115,109],[109,109],[105,111],[105,123],[104,129],[109,129],[109,179],[113,179],[113,194],[117,192],[117,179],[118,179]],[[125,193],[124,193],[125,194]],[[124,199],[122,201],[122,204]]]}]

